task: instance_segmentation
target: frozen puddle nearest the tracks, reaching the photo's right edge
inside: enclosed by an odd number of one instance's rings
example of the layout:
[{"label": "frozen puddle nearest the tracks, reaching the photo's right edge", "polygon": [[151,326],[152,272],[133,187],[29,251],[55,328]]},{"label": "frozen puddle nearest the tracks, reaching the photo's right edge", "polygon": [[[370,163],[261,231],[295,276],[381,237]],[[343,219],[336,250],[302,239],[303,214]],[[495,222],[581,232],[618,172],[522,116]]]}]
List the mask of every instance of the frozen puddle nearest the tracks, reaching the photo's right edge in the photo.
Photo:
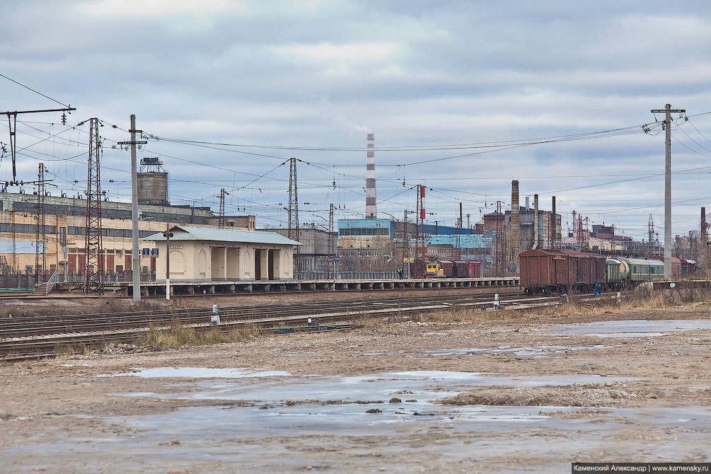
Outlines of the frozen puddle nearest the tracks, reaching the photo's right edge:
[{"label": "frozen puddle nearest the tracks, reaching the photo's right edge", "polygon": [[674,331],[711,329],[711,320],[706,319],[662,319],[651,321],[632,319],[629,321],[597,321],[550,326],[545,333],[594,335],[598,338],[650,338],[663,336]]}]

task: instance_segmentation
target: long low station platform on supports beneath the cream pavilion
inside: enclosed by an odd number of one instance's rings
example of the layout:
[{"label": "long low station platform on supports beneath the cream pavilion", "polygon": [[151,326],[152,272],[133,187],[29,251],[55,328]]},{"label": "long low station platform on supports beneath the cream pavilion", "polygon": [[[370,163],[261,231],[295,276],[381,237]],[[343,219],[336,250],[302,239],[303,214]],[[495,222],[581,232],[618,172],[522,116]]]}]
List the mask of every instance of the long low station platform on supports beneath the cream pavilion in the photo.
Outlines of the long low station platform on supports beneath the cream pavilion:
[{"label": "long low station platform on supports beneath the cream pavilion", "polygon": [[[491,276],[486,278],[437,279],[363,279],[363,280],[247,280],[247,281],[171,281],[175,295],[278,293],[285,291],[364,291],[406,290],[439,288],[483,288],[518,286],[518,276]],[[58,290],[65,284],[58,284]],[[132,294],[132,284],[124,281],[105,285],[106,291],[122,295]],[[166,281],[141,281],[141,294],[165,296]]]}]

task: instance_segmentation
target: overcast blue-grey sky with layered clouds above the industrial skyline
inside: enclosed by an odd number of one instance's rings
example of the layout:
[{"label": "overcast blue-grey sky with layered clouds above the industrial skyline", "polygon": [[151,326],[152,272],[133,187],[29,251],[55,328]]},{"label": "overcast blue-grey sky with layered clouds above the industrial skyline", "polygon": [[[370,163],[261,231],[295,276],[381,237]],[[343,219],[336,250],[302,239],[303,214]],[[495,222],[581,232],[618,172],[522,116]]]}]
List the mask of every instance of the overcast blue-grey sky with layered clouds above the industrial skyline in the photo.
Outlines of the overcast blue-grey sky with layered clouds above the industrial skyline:
[{"label": "overcast blue-grey sky with layered clouds above the industrial skyline", "polygon": [[[101,176],[112,199],[130,198],[130,155],[111,146],[128,139],[136,114],[139,129],[161,137],[139,157],[162,158],[172,203],[216,210],[225,188],[228,213],[284,226],[289,166],[279,165],[293,156],[301,222],[327,225],[330,203],[337,217],[358,217],[373,131],[380,217],[402,219],[415,208],[412,186],[423,183],[428,221],[454,225],[461,201],[479,222],[496,200],[508,208],[518,179],[521,205],[538,193],[550,209],[556,195],[564,226],[577,210],[646,238],[652,214],[663,239],[664,134],[650,109],[670,103],[690,117],[672,127],[673,232],[697,229],[711,203],[706,1],[101,0],[3,9],[0,73],[76,107],[71,126],[90,117],[106,124]],[[2,77],[0,85],[0,112],[61,107]],[[88,123],[62,126],[58,113],[18,118],[18,179],[36,179],[42,162],[60,188],[53,195],[85,190]],[[625,127],[635,133],[471,148]],[[0,141],[9,141],[1,120]],[[430,147],[382,150],[413,146]],[[432,161],[458,155],[468,156]],[[0,178],[11,178],[7,156]]]}]

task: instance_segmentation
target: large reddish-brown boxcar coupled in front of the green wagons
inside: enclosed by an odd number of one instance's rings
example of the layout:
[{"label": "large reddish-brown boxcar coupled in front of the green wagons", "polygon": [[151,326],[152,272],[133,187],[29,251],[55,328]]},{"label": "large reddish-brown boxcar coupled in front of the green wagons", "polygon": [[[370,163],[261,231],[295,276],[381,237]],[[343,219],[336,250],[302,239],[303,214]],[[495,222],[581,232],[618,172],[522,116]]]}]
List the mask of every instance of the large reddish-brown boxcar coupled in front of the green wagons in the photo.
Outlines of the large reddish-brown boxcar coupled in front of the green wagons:
[{"label": "large reddish-brown boxcar coupled in front of the green wagons", "polygon": [[605,257],[562,250],[527,250],[519,255],[520,281],[527,291],[590,291],[606,283]]}]

